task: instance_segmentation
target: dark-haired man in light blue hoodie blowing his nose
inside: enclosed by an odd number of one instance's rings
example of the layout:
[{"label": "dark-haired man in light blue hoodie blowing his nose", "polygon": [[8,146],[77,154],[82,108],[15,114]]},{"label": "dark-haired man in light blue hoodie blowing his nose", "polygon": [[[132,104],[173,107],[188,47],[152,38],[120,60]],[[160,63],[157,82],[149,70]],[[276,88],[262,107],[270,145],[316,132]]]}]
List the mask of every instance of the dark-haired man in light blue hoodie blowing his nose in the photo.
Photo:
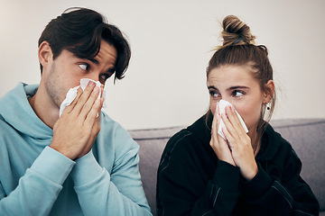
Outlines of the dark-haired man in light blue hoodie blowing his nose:
[{"label": "dark-haired man in light blue hoodie blowing his nose", "polygon": [[[98,99],[121,79],[127,41],[95,11],[76,8],[42,32],[40,85],[0,99],[0,215],[151,215],[138,171],[138,145]],[[59,116],[69,89],[77,96]],[[98,114],[99,113],[99,114]]]}]

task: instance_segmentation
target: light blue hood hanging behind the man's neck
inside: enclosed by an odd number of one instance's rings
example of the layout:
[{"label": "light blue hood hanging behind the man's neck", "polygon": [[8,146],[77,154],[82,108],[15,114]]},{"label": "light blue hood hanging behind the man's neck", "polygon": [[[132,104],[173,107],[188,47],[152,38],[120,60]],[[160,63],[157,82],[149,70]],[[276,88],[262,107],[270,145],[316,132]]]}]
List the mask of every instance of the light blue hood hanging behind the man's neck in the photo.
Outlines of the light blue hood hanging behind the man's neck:
[{"label": "light blue hood hanging behind the man's neck", "polygon": [[5,94],[0,99],[0,120],[33,139],[51,139],[51,128],[38,118],[28,102],[28,98],[36,94],[38,86],[19,83]]}]

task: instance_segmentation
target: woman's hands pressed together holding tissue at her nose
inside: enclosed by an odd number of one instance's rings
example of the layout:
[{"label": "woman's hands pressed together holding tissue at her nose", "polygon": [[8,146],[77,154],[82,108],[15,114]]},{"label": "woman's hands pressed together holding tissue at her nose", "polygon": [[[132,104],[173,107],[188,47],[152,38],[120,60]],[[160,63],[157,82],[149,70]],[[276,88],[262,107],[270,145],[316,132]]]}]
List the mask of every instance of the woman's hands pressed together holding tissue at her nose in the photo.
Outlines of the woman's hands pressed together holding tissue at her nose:
[{"label": "woman's hands pressed together holding tissue at her nose", "polygon": [[[246,134],[246,131],[239,121],[235,108],[232,106],[227,106],[225,111],[226,113],[222,114],[220,114],[217,110],[215,112],[212,122],[210,145],[220,160],[238,166],[240,168],[241,175],[243,175],[246,180],[251,180],[258,171],[251,139]],[[228,140],[228,143],[217,133],[218,124],[221,121],[221,118],[227,127],[227,129],[223,129],[222,131]],[[229,157],[229,153],[232,160]]]}]

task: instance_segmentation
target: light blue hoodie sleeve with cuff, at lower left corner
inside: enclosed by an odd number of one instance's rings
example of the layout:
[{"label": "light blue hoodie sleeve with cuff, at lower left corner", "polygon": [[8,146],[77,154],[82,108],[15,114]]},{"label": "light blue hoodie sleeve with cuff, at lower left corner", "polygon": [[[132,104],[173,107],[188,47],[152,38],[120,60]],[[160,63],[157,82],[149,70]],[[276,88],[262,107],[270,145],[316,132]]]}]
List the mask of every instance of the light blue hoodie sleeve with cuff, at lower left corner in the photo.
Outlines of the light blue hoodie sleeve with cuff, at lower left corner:
[{"label": "light blue hoodie sleeve with cuff, at lower left corner", "polygon": [[18,186],[5,196],[0,187],[0,215],[47,215],[75,162],[46,147]]}]

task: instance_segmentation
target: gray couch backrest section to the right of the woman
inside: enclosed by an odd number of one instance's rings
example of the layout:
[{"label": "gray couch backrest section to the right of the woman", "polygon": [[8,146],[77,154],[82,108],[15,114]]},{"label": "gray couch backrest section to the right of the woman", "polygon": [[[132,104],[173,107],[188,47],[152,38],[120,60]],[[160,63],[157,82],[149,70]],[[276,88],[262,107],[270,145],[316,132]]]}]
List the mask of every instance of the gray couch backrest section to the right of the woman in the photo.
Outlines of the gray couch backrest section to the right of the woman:
[{"label": "gray couch backrest section to the right of the woman", "polygon": [[301,158],[302,178],[320,202],[320,211],[325,211],[325,120],[278,120],[271,124]]}]

